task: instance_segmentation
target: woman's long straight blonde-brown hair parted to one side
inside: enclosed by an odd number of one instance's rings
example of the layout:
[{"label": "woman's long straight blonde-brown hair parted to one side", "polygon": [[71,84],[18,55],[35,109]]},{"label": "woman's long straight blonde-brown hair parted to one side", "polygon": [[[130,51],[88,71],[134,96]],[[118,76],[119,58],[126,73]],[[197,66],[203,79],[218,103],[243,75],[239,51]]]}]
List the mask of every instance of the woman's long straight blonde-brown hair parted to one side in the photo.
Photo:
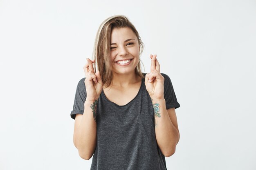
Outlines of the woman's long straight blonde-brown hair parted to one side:
[{"label": "woman's long straight blonde-brown hair parted to one side", "polygon": [[[135,26],[128,20],[128,18],[124,15],[114,15],[106,20],[104,20],[99,26],[96,39],[94,42],[93,49],[93,59],[97,64],[97,68],[101,74],[101,79],[103,82],[103,87],[108,87],[112,83],[112,71],[111,71],[111,59],[110,59],[110,38],[111,33],[114,28],[124,28],[128,27],[132,29],[135,33],[138,42],[139,42],[139,56],[143,52],[144,44],[141,41],[138,31],[135,29]],[[94,68],[96,72],[96,67],[94,63]],[[143,65],[141,60],[139,59],[138,65],[135,68],[136,75],[139,75],[141,78],[145,78],[141,72],[140,63]],[[143,65],[144,67],[144,65]]]}]

